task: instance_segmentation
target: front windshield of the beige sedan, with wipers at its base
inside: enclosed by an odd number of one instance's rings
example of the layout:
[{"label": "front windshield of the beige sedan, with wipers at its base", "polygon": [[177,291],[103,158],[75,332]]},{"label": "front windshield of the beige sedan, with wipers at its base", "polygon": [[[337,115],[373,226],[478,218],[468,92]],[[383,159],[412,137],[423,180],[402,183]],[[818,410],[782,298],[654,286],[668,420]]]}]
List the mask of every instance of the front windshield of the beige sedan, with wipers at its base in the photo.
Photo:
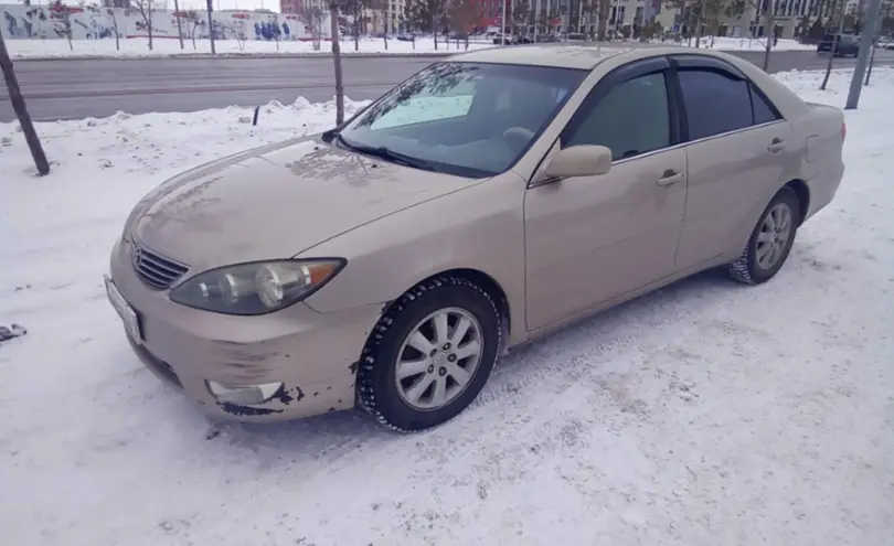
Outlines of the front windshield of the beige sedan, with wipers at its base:
[{"label": "front windshield of the beige sedan, with wipers at its base", "polygon": [[[395,87],[351,121],[340,142],[386,160],[482,178],[511,168],[586,71],[445,62]],[[409,161],[404,161],[411,164]]]}]

